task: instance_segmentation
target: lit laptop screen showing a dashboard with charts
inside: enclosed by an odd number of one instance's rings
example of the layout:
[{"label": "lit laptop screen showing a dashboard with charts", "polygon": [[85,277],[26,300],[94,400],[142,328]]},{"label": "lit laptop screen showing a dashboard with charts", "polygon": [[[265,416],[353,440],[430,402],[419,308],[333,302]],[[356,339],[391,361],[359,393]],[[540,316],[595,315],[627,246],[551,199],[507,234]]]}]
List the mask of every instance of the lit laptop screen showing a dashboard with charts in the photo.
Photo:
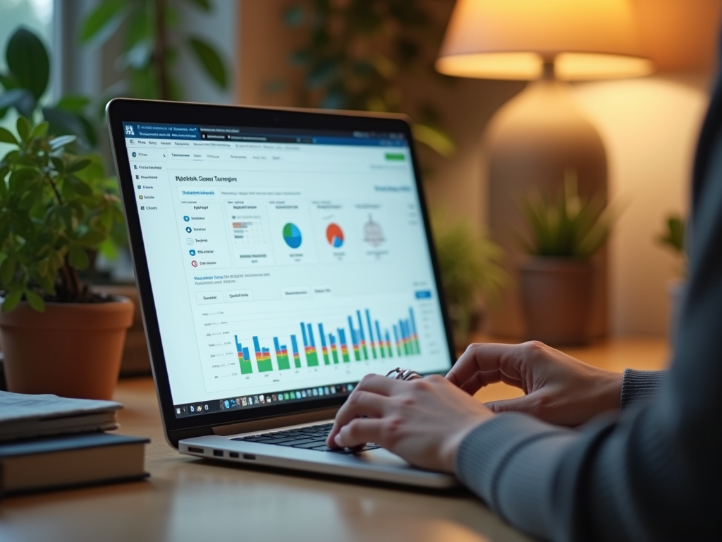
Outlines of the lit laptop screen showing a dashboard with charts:
[{"label": "lit laptop screen showing a dashboard with charts", "polygon": [[176,417],[451,367],[403,133],[123,131]]}]

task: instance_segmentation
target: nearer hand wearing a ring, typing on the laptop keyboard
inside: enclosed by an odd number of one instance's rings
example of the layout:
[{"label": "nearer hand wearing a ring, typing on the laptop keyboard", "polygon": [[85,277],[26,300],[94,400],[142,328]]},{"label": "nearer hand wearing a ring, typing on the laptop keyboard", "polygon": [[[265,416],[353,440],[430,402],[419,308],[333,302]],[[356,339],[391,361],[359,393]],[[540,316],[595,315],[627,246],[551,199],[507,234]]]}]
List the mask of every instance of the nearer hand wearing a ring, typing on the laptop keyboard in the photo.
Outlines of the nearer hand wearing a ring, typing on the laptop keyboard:
[{"label": "nearer hand wearing a ring, typing on the laptop keyboard", "polygon": [[464,437],[492,416],[444,377],[402,381],[367,374],[336,414],[326,444],[374,442],[413,465],[450,473]]}]

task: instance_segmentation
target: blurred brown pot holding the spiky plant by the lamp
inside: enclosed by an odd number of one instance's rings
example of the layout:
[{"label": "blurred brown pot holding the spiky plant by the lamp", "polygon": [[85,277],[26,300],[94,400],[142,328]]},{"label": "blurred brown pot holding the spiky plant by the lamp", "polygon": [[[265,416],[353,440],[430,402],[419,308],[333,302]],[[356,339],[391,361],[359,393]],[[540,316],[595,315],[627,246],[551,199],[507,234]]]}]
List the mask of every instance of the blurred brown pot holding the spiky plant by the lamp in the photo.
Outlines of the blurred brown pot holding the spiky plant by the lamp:
[{"label": "blurred brown pot holding the spiky plant by the lamp", "polygon": [[591,338],[594,267],[567,258],[531,258],[520,266],[526,338],[582,345]]}]

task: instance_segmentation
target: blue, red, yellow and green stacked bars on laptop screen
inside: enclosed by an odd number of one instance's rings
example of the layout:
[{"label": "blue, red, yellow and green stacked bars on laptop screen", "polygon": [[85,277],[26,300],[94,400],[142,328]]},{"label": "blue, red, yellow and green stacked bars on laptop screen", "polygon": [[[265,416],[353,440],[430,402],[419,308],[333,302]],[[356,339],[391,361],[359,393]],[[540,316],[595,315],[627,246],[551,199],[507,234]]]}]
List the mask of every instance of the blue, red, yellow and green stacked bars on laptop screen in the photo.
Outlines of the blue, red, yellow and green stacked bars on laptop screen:
[{"label": "blue, red, yellow and green stacked bars on laptop screen", "polygon": [[[235,347],[238,352],[238,364],[241,374],[266,371],[287,371],[294,367],[303,367],[302,358],[306,367],[321,365],[347,364],[352,361],[373,361],[404,356],[418,356],[421,353],[419,335],[417,333],[414,309],[404,317],[394,321],[388,327],[383,327],[378,319],[374,319],[371,311],[365,309],[349,314],[346,318],[348,328],[336,327],[335,333],[328,333],[322,323],[316,325],[310,322],[300,322],[301,340],[303,341],[303,355],[299,348],[297,335],[277,335],[269,337],[273,340],[275,364],[271,349],[261,345],[261,340],[255,335],[252,337],[256,366],[251,361],[248,347],[242,345],[235,336]],[[314,328],[318,330],[321,343],[320,350],[316,346]],[[347,335],[348,332],[348,335]],[[393,337],[393,340],[392,340]],[[286,339],[290,338],[291,352],[287,348]]]}]

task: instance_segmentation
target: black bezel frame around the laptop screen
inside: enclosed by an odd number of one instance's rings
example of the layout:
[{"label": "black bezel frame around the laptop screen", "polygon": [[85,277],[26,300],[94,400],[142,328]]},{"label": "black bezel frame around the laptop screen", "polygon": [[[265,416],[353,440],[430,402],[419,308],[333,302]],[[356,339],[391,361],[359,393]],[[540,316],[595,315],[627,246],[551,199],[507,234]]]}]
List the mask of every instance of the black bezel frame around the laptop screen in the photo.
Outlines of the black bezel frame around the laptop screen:
[{"label": "black bezel frame around the laptop screen", "polygon": [[[446,311],[443,286],[436,251],[433,244],[427,206],[424,198],[422,179],[419,174],[417,156],[413,145],[412,131],[406,117],[400,115],[376,115],[356,112],[327,112],[299,110],[292,108],[257,108],[242,106],[217,106],[187,102],[163,102],[157,100],[134,100],[116,98],[105,108],[108,119],[108,131],[116,164],[118,185],[123,210],[126,215],[126,228],[130,240],[131,258],[136,276],[136,284],[142,309],[143,324],[148,342],[151,368],[160,403],[160,413],[168,441],[177,446],[178,439],[212,434],[212,428],[227,424],[256,421],[266,418],[279,418],[291,414],[313,412],[337,408],[344,403],[346,396],[318,397],[300,403],[277,403],[248,410],[227,410],[219,413],[203,414],[186,418],[176,418],[173,396],[170,392],[168,369],[162,348],[160,327],[157,322],[155,299],[153,298],[148,262],[140,227],[138,208],[135,202],[131,167],[126,152],[123,121],[166,124],[200,124],[205,126],[252,126],[258,128],[310,129],[365,132],[403,132],[409,141],[414,168],[414,178],[419,194],[424,228],[438,291],[446,341],[451,364],[456,361],[451,334],[451,322]],[[128,205],[131,202],[131,205]]]}]

